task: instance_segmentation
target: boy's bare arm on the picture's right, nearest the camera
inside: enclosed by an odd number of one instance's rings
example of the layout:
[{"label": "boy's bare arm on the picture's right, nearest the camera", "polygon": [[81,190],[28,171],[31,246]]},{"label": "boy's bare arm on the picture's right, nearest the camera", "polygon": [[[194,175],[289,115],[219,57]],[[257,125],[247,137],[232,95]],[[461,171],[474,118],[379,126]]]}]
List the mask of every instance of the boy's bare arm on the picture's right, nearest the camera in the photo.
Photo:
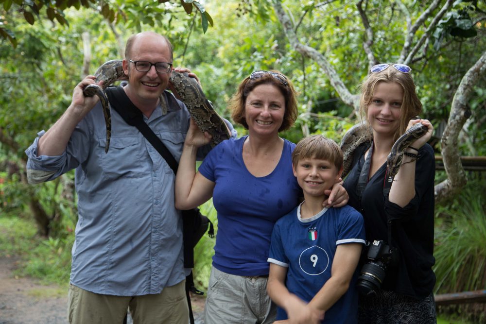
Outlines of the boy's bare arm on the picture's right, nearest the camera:
[{"label": "boy's bare arm on the picture's right, nearest the camera", "polygon": [[349,288],[361,255],[362,244],[340,244],[332,260],[331,277],[312,298],[309,305],[320,310],[328,310]]}]

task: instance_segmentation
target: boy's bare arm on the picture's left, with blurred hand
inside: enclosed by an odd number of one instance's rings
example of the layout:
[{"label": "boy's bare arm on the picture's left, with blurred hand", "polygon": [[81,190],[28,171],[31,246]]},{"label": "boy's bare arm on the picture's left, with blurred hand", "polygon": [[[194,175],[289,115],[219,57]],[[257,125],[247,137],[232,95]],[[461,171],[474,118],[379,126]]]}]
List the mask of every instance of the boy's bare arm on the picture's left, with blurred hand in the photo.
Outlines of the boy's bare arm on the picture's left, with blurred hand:
[{"label": "boy's bare arm on the picture's left, with blurred hand", "polygon": [[270,263],[270,273],[268,275],[267,292],[270,298],[280,307],[285,309],[288,321],[278,321],[276,323],[295,323],[295,324],[319,324],[324,318],[324,312],[309,307],[302,299],[285,287],[285,277],[287,268]]}]

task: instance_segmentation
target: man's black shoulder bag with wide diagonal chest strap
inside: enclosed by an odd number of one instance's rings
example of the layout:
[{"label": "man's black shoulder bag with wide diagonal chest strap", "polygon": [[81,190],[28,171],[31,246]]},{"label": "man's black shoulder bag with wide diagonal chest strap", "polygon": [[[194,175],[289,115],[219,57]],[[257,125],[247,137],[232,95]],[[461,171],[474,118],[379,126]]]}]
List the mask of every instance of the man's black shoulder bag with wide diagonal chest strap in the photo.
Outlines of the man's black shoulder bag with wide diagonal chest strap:
[{"label": "man's black shoulder bag with wide diagonal chest strap", "polygon": [[[152,146],[162,155],[167,164],[177,173],[177,161],[174,156],[162,143],[162,141],[155,135],[152,129],[143,121],[142,112],[130,101],[125,91],[121,86],[110,86],[105,89],[108,100],[113,109],[115,109],[125,120],[125,122],[131,126],[135,126],[139,129],[145,138],[152,144]],[[199,208],[193,208],[189,210],[182,210],[182,232],[183,232],[183,245],[184,245],[184,268],[194,267],[194,246],[203,237],[204,233],[208,230],[209,225],[209,237],[214,237],[214,228],[208,217],[201,214]],[[194,279],[191,273],[186,277],[186,296],[189,304],[189,316],[191,324],[194,324],[194,317],[192,314],[191,299],[189,291],[195,294],[203,295],[204,292],[194,287]]]}]

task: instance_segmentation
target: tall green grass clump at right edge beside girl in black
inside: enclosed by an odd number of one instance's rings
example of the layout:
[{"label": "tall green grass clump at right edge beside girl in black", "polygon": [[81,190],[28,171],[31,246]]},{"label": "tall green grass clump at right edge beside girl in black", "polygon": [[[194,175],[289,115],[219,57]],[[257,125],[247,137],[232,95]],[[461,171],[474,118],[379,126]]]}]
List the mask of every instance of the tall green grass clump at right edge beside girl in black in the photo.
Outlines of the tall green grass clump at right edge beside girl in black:
[{"label": "tall green grass clump at right edge beside girl in black", "polygon": [[[482,174],[457,199],[436,207],[435,293],[486,289],[486,194]],[[443,313],[483,323],[484,305],[440,307]]]}]

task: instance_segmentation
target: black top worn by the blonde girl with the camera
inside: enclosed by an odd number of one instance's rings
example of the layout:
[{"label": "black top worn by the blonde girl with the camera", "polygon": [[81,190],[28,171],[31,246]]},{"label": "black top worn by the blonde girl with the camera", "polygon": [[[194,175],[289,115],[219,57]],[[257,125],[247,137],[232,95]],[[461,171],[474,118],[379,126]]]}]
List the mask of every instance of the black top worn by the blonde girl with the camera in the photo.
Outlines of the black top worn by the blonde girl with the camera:
[{"label": "black top worn by the blonde girl with the camera", "polygon": [[[388,243],[387,220],[392,221],[392,245],[398,248],[399,262],[389,266],[381,288],[393,290],[417,299],[428,296],[435,284],[432,266],[434,251],[434,150],[425,144],[419,150],[415,171],[415,197],[405,207],[388,201],[383,194],[386,163],[369,179],[363,192],[357,189],[359,175],[364,165],[364,153],[370,143],[358,147],[353,156],[352,169],[344,187],[349,194],[349,205],[364,217],[368,241],[383,240]],[[360,198],[361,197],[361,198]],[[366,262],[358,266],[360,269]]]}]

